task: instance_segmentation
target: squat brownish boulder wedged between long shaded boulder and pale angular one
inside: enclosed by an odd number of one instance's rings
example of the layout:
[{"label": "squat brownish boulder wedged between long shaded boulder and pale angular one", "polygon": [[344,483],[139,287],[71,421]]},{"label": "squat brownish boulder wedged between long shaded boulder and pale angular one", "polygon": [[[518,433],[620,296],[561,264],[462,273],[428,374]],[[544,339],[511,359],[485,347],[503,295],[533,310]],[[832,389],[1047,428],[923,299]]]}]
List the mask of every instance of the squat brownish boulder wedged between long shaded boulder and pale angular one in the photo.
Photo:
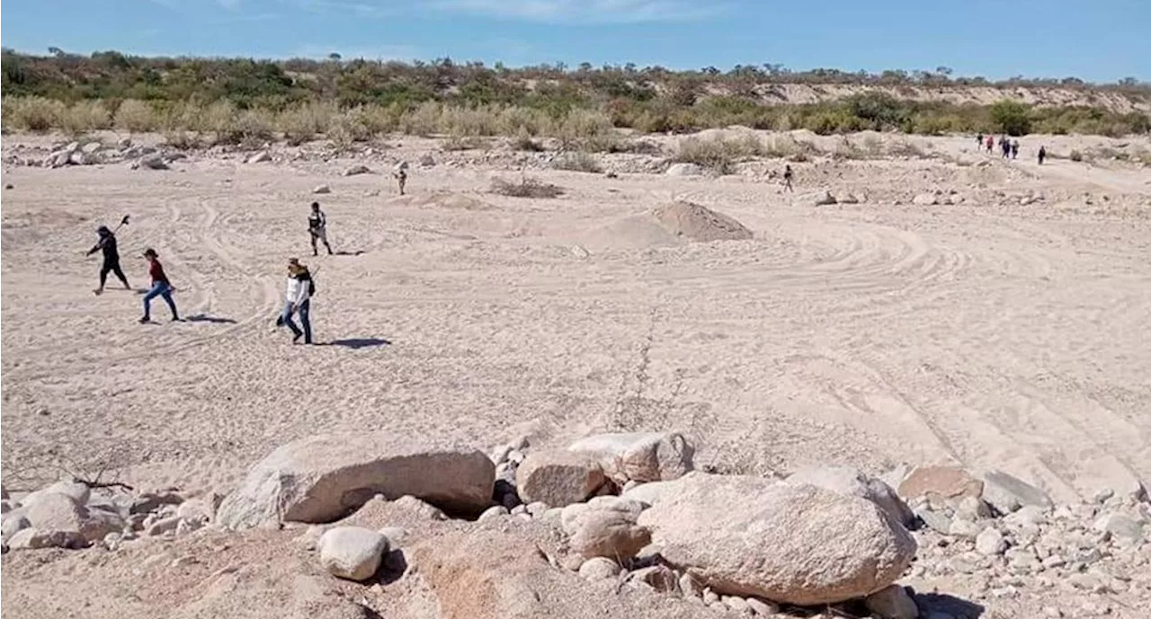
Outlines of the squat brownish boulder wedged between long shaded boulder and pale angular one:
[{"label": "squat brownish boulder wedged between long shaded boulder and pale angular one", "polygon": [[595,456],[574,451],[534,451],[516,469],[516,489],[524,503],[555,507],[586,500],[605,482]]}]

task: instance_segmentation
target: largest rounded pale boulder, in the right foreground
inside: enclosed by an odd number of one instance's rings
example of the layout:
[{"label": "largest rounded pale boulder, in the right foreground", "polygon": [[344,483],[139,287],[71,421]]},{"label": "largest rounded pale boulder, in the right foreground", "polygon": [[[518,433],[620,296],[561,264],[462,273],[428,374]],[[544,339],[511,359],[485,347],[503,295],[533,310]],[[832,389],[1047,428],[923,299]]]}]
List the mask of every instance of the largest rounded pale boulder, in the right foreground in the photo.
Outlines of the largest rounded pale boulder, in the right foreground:
[{"label": "largest rounded pale boulder, in the right foreground", "polygon": [[915,538],[867,499],[745,475],[692,473],[677,487],[639,525],[718,594],[843,602],[893,583],[915,557]]}]

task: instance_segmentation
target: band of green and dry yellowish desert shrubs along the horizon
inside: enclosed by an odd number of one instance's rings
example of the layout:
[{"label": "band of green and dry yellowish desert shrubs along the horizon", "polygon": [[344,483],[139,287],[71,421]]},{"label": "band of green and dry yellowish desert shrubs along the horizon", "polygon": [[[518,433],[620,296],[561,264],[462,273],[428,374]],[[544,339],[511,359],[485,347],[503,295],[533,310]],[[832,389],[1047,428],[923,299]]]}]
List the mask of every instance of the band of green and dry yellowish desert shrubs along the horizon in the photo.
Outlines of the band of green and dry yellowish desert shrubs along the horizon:
[{"label": "band of green and dry yellowish desert shrubs along the horizon", "polygon": [[[779,84],[848,84],[883,87],[833,100],[772,102]],[[899,97],[891,89],[997,87],[992,105]],[[83,133],[100,129],[161,131],[198,143],[283,137],[300,143],[326,137],[355,143],[403,132],[447,135],[457,145],[512,136],[529,147],[538,137],[565,148],[617,152],[627,143],[612,129],[641,133],[691,132],[746,125],[808,129],[816,133],[861,130],[942,135],[1145,133],[1144,112],[1103,105],[1030,106],[1017,89],[1082,91],[1083,101],[1114,94],[1145,102],[1151,86],[1134,79],[1092,85],[1061,81],[952,78],[935,71],[878,75],[834,70],[793,72],[776,64],[673,72],[634,66],[570,69],[562,64],[509,69],[501,64],[373,62],[365,60],[152,59],[117,52],[90,56],[55,51],[30,56],[0,51],[0,128],[9,131]]]}]

